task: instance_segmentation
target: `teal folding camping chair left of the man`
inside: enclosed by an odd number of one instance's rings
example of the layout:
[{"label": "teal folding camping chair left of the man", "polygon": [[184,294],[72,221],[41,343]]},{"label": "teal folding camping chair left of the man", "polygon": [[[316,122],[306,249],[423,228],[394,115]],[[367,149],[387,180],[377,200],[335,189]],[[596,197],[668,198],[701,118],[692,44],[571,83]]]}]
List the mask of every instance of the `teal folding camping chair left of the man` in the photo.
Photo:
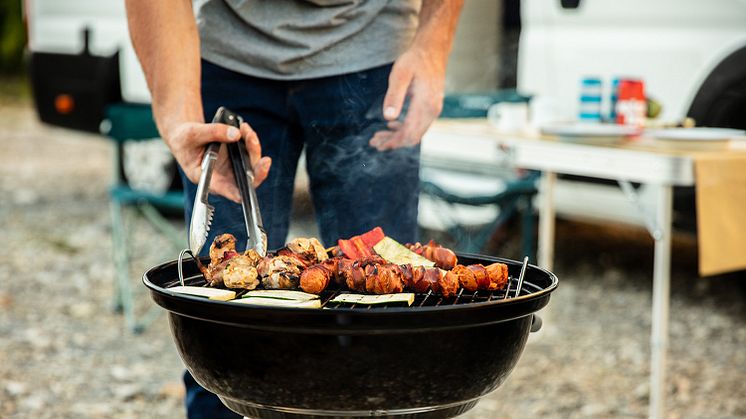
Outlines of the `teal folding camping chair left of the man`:
[{"label": "teal folding camping chair left of the man", "polygon": [[140,317],[136,314],[132,280],[139,281],[142,272],[131,272],[131,230],[135,216],[147,220],[174,246],[175,255],[183,248],[185,234],[175,228],[162,212],[183,212],[184,196],[181,191],[164,188],[147,189],[133,186],[124,177],[123,150],[131,142],[160,141],[153,115],[148,105],[115,104],[106,111],[101,131],[115,142],[114,176],[109,189],[111,200],[112,251],[114,260],[115,291],[113,307],[124,314],[126,327],[140,333],[155,319],[160,310],[152,306]]}]

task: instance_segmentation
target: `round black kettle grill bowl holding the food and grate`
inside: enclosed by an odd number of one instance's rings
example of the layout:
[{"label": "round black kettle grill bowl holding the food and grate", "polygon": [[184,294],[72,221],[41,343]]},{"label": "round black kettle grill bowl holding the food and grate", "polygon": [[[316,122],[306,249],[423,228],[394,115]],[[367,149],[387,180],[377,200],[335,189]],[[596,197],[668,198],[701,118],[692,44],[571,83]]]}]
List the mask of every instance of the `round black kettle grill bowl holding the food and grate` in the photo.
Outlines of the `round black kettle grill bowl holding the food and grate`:
[{"label": "round black kettle grill bowl holding the food and grate", "polygon": [[[521,263],[459,255],[463,264]],[[194,262],[185,274],[198,275]],[[256,418],[446,418],[473,407],[510,374],[533,313],[557,277],[529,265],[517,298],[437,306],[302,309],[252,307],[176,294],[177,264],[143,276],[168,310],[186,368],[239,414]],[[515,292],[513,280],[513,292]],[[466,299],[467,301],[464,301]],[[479,300],[479,299],[477,299]]]}]

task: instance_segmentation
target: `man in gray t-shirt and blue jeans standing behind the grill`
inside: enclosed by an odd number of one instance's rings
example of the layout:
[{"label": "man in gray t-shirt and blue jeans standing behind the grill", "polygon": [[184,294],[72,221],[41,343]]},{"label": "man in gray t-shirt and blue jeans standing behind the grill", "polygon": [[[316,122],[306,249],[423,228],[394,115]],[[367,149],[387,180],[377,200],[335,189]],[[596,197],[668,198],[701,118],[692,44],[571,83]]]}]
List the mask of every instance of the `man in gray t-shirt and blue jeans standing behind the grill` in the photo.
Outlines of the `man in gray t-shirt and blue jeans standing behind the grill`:
[{"label": "man in gray t-shirt and blue jeans standing behind the grill", "polygon": [[[376,225],[414,241],[418,144],[441,110],[462,0],[197,0],[194,11],[185,0],[126,5],[159,132],[182,170],[187,219],[205,145],[243,138],[256,186],[263,182],[257,194],[270,249],[285,242],[304,148],[326,245]],[[248,124],[205,124],[219,106]],[[219,196],[211,198],[208,243],[226,231],[245,242],[224,149],[210,185]],[[188,400],[190,417],[197,399]]]}]

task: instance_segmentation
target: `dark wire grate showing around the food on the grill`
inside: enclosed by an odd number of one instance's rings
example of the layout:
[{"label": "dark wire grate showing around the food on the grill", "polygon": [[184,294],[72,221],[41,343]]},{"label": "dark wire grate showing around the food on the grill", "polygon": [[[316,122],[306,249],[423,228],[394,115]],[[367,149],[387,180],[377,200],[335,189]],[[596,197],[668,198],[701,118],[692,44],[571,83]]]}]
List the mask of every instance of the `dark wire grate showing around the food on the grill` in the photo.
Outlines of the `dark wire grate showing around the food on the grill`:
[{"label": "dark wire grate showing around the food on the grill", "polygon": [[[205,285],[205,279],[201,274],[190,276],[184,279],[186,285],[203,286]],[[173,281],[166,284],[166,288],[179,285],[179,281]],[[460,305],[460,304],[473,304],[473,303],[484,303],[493,300],[504,300],[508,298],[515,298],[515,291],[518,288],[518,278],[509,277],[507,287],[497,291],[475,291],[470,292],[461,288],[454,297],[445,298],[441,295],[434,294],[432,291],[426,293],[416,293],[414,302],[412,303],[413,308],[417,307],[438,307],[445,305]],[[524,280],[521,287],[520,295],[529,295],[533,292],[541,291],[543,287],[533,284],[529,281]],[[236,298],[241,298],[247,290],[236,291]],[[322,308],[334,308],[341,310],[386,310],[388,305],[361,305],[361,304],[342,304],[332,303],[331,300],[334,297],[349,292],[342,289],[325,290],[321,293],[319,298],[321,299]]]}]

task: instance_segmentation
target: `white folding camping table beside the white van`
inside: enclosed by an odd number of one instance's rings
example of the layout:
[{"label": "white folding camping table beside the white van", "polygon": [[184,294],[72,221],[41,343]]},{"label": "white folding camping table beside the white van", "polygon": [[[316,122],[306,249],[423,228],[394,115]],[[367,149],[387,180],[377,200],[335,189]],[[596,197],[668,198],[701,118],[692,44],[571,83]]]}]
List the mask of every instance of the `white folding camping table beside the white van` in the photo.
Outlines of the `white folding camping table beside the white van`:
[{"label": "white folding camping table beside the white van", "polygon": [[[653,418],[665,411],[665,370],[668,347],[670,299],[672,190],[695,184],[693,153],[660,147],[652,139],[609,141],[560,140],[538,135],[497,133],[484,119],[441,120],[428,135],[458,138],[491,138],[506,147],[516,167],[542,171],[539,203],[538,263],[552,269],[554,258],[554,185],[557,173],[616,180],[631,200],[636,199],[630,182],[656,189],[651,214],[643,214],[655,240],[650,368],[650,410]],[[646,211],[637,202],[638,208]]]}]

